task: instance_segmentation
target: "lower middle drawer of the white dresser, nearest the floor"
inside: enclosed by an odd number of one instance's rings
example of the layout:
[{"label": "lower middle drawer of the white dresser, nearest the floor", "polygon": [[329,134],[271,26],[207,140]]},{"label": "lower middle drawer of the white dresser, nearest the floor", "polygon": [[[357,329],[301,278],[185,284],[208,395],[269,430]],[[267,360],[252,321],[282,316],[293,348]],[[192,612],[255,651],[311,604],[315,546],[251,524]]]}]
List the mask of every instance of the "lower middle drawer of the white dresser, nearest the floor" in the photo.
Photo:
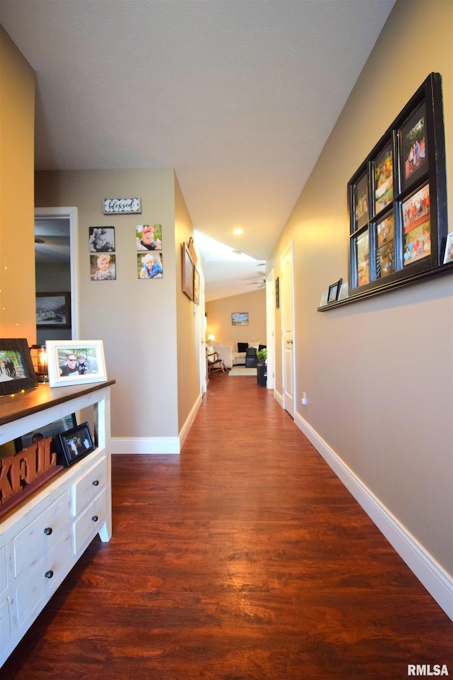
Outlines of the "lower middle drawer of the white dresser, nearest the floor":
[{"label": "lower middle drawer of the white dresser, nearest the floor", "polygon": [[40,600],[50,598],[69,565],[69,529],[16,588],[17,621],[21,626]]}]

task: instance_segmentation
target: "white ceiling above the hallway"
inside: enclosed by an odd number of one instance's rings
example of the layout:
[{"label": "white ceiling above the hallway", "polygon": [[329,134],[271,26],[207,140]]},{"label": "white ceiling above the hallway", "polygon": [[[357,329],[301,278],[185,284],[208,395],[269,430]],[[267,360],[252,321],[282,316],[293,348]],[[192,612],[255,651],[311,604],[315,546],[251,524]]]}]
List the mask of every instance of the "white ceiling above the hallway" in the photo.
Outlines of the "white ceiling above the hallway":
[{"label": "white ceiling above the hallway", "polygon": [[247,292],[394,2],[1,0],[36,169],[173,167],[207,300]]}]

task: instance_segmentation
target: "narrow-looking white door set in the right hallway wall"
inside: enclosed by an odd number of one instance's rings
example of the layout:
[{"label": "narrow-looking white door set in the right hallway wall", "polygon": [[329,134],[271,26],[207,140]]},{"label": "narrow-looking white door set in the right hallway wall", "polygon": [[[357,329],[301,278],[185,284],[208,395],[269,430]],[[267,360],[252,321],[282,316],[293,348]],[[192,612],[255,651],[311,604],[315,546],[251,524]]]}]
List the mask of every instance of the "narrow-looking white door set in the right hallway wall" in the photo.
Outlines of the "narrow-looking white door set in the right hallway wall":
[{"label": "narrow-looking white door set in the right hallway wall", "polygon": [[282,304],[282,380],[283,408],[294,418],[294,259],[293,244],[282,254],[281,304]]}]

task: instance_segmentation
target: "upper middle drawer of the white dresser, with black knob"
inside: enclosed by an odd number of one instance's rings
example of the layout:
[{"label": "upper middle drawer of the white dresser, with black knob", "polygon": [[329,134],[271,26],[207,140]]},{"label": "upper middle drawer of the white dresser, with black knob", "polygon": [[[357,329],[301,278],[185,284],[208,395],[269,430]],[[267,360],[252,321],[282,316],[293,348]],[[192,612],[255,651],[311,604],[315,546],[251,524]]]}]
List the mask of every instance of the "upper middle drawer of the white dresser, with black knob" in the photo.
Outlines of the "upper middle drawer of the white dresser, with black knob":
[{"label": "upper middle drawer of the white dresser, with black knob", "polygon": [[69,521],[65,492],[14,538],[14,575],[30,570],[59,540]]}]

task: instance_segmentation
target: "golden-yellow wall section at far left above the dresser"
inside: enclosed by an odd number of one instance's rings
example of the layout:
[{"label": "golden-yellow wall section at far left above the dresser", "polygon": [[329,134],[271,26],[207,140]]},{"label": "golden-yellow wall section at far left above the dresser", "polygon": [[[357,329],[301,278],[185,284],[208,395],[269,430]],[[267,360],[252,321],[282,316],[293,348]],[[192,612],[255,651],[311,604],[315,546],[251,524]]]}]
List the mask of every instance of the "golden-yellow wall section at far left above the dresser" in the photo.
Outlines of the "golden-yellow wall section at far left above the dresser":
[{"label": "golden-yellow wall section at far left above the dresser", "polygon": [[0,337],[34,344],[35,72],[0,26]]}]

